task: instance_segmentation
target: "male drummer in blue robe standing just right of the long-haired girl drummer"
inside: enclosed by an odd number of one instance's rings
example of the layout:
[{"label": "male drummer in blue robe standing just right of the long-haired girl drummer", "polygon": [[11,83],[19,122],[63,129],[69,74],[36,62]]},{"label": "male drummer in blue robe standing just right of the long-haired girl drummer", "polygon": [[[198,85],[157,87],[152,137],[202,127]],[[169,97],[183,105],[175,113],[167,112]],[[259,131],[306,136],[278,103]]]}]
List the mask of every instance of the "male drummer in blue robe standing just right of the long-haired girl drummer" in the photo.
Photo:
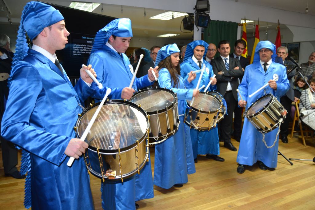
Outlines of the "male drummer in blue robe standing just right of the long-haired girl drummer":
[{"label": "male drummer in blue robe standing just right of the long-haired girl drummer", "polygon": [[[197,71],[205,66],[205,71],[203,72],[199,88],[203,85],[206,87],[211,79],[212,82],[209,88],[206,91],[204,91],[203,88],[202,92],[213,91],[216,89],[216,79],[212,78],[212,66],[209,62],[204,62],[208,46],[209,44],[203,40],[196,40],[189,43],[186,48],[184,62],[180,64],[180,74],[185,80],[187,79],[187,74],[190,71]],[[200,75],[200,72],[197,73],[197,79],[191,82],[192,86],[189,86],[189,88],[197,87]],[[211,128],[209,131],[198,131],[192,127],[190,129],[190,134],[195,162],[198,162],[197,155],[206,155],[206,157],[209,159],[214,159],[221,162],[224,161],[223,158],[218,156],[220,154],[220,147],[217,126],[215,126],[215,128]]]}]

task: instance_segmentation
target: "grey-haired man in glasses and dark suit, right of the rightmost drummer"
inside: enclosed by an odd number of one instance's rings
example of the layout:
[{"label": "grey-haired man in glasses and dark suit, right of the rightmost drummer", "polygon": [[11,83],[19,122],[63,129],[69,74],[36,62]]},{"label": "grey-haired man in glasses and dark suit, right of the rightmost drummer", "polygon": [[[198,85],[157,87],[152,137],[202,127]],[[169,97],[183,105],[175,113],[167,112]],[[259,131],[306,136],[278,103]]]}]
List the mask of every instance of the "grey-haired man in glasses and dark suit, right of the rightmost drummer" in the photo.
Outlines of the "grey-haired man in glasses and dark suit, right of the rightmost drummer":
[{"label": "grey-haired man in glasses and dark suit, right of the rightmost drummer", "polygon": [[[277,55],[281,60],[279,59],[280,64],[283,65],[294,65],[294,63],[290,60],[286,60],[288,57],[288,48],[285,46],[278,47],[277,49]],[[277,62],[277,60],[276,60]],[[284,106],[284,108],[287,110],[287,117],[284,119],[284,121],[281,123],[280,126],[280,135],[281,135],[281,141],[283,143],[288,143],[288,134],[289,134],[289,122],[291,120],[290,114],[291,114],[291,103],[294,101],[294,90],[293,90],[293,81],[292,77],[295,75],[295,70],[291,71],[288,74],[288,80],[290,83],[290,88],[288,92],[280,98],[280,103]]]}]

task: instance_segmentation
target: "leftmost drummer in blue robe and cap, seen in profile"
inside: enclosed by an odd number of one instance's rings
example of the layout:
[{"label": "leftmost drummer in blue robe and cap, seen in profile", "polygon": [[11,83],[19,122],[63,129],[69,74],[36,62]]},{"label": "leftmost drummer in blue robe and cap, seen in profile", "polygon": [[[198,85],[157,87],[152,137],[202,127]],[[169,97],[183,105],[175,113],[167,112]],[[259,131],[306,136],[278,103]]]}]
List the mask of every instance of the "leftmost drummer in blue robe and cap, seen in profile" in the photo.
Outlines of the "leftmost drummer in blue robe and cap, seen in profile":
[{"label": "leftmost drummer in blue robe and cap, seen in profile", "polygon": [[95,72],[91,66],[81,68],[81,78],[73,87],[58,65],[55,51],[65,48],[69,36],[65,26],[58,10],[41,2],[27,3],[8,82],[1,134],[23,149],[24,206],[34,210],[94,208],[83,157],[72,167],[66,163],[69,156],[78,158],[88,147],[75,138],[73,127],[84,99],[95,93],[95,84],[84,69]]}]

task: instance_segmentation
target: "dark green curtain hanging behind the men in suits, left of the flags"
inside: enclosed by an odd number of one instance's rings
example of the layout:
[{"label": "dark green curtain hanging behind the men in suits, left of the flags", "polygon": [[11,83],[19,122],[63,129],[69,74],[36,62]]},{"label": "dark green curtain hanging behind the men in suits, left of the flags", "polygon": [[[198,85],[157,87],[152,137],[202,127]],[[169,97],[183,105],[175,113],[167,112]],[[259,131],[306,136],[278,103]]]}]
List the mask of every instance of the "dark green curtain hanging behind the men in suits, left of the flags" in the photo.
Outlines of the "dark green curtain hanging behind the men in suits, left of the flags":
[{"label": "dark green curtain hanging behind the men in suits, left of the flags", "polygon": [[[221,40],[230,42],[231,53],[234,52],[234,43],[237,39],[238,23],[222,20],[211,20],[208,28],[203,31],[203,40],[206,43],[214,43],[216,46]],[[219,52],[215,57],[219,56]]]}]

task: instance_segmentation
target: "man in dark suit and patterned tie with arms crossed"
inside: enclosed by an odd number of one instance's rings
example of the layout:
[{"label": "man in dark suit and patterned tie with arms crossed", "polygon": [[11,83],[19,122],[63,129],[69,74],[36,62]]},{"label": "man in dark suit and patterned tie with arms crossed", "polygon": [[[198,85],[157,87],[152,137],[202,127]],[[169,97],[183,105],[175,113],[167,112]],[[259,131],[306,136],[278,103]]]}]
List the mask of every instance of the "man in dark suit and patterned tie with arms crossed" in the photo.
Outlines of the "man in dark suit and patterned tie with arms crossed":
[{"label": "man in dark suit and patterned tie with arms crossed", "polygon": [[223,95],[226,100],[227,114],[220,122],[220,134],[224,141],[224,147],[237,151],[231,143],[231,127],[233,121],[233,111],[238,105],[238,78],[243,75],[242,66],[238,59],[231,58],[230,43],[222,40],[218,44],[217,50],[220,57],[211,60],[213,73],[217,78],[217,91]]}]

